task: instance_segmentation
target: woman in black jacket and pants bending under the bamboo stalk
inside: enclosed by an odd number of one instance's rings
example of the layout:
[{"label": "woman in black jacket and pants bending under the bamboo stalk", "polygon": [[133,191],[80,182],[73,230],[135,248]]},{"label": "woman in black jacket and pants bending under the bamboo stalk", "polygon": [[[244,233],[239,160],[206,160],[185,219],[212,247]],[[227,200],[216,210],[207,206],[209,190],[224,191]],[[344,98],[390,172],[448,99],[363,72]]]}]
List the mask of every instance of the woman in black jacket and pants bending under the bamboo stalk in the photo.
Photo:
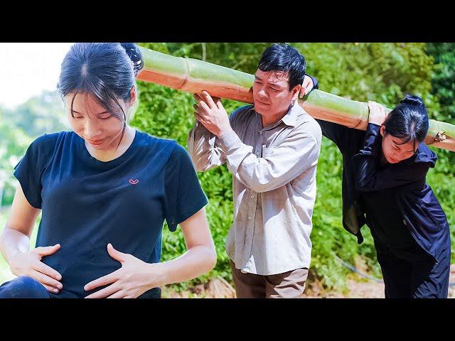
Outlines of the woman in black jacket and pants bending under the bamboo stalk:
[{"label": "woman in black jacket and pants bending under the bamboo stalk", "polygon": [[388,115],[369,102],[367,131],[318,120],[343,154],[343,226],[375,242],[386,298],[446,298],[450,232],[444,210],[425,178],[437,156],[422,141],[427,109],[407,95]]}]

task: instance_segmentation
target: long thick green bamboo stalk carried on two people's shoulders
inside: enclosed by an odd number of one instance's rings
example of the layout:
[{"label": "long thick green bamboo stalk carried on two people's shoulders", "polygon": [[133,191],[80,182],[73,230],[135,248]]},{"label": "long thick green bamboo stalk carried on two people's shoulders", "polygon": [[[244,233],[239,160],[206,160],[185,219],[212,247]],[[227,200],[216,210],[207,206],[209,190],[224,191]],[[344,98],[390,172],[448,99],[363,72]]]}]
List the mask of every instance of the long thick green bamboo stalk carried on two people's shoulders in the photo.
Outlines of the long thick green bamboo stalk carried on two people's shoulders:
[{"label": "long thick green bamboo stalk carried on two people's shoulders", "polygon": [[[144,69],[138,75],[139,80],[191,93],[205,90],[215,97],[253,103],[254,75],[202,60],[173,57],[143,47],[140,49],[144,56]],[[368,103],[365,102],[313,90],[299,100],[299,105],[316,119],[360,130],[366,130],[368,125]],[[390,109],[387,110],[390,112]],[[430,119],[425,143],[455,151],[455,125]]]}]

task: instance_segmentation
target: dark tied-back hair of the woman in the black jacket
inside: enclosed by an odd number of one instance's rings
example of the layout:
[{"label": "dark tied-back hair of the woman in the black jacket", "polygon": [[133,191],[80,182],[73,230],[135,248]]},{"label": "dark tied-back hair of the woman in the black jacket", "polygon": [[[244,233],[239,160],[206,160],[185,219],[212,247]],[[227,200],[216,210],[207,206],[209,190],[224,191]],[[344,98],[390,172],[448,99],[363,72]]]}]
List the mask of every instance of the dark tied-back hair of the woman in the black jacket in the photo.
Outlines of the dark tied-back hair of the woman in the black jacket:
[{"label": "dark tied-back hair of the woman in the black jacket", "polygon": [[386,134],[401,139],[404,144],[413,141],[415,148],[415,141],[424,141],[429,127],[424,102],[420,97],[407,94],[388,114],[384,125]]}]

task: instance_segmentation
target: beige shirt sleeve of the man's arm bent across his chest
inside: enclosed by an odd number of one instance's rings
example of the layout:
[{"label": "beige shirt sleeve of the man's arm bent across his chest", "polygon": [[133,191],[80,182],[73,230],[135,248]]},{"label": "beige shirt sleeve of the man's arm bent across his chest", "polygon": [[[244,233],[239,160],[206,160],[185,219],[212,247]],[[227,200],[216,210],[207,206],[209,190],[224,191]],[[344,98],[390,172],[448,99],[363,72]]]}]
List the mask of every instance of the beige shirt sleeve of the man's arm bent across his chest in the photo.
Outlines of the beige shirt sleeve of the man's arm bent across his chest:
[{"label": "beige shirt sleeve of the man's arm bent across his chest", "polygon": [[241,183],[257,193],[286,185],[318,162],[321,129],[316,122],[296,127],[278,146],[257,157],[252,146],[243,144],[235,131],[220,136],[228,169]]}]

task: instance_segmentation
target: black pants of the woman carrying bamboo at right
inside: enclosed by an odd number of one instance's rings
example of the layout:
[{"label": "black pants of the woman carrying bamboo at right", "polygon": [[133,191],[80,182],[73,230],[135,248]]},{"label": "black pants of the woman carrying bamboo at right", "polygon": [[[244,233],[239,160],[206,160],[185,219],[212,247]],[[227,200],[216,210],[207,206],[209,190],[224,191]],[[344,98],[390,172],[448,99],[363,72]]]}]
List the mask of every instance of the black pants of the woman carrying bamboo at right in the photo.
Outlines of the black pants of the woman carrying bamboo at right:
[{"label": "black pants of the woman carrying bamboo at right", "polygon": [[385,298],[447,298],[450,247],[438,261],[417,245],[391,249],[375,239],[376,254],[385,283]]}]

